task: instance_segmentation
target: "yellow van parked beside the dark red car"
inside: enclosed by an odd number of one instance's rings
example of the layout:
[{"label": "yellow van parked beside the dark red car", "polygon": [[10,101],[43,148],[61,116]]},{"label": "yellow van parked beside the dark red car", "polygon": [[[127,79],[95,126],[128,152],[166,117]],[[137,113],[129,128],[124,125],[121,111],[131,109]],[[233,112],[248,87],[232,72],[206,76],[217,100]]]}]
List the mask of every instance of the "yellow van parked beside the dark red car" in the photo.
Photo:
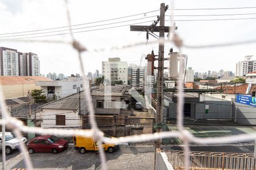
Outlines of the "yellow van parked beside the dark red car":
[{"label": "yellow van parked beside the dark red car", "polygon": [[[105,137],[109,137],[105,135]],[[113,138],[113,137],[109,137]],[[81,154],[84,154],[86,151],[98,151],[97,141],[94,141],[91,137],[80,137],[75,136],[73,137],[73,143],[75,144],[75,150],[79,150]],[[113,153],[114,151],[118,150],[119,145],[102,143],[102,146],[105,151],[109,153]]]}]

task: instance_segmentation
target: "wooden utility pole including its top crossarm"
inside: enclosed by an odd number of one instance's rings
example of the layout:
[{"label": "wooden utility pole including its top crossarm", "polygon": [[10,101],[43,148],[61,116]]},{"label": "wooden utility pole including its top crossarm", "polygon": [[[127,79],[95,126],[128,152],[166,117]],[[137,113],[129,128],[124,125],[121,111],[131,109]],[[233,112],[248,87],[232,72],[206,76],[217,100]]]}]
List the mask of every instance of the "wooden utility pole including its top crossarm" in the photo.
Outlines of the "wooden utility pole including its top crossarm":
[{"label": "wooden utility pole including its top crossarm", "polygon": [[[130,25],[130,31],[145,31],[147,32],[147,39],[148,33],[159,32],[159,57],[158,59],[158,80],[157,80],[157,103],[156,103],[156,117],[155,117],[155,124],[158,126],[156,128],[156,132],[162,131],[162,122],[163,122],[163,70],[164,70],[164,32],[169,32],[170,27],[164,26],[164,14],[168,9],[168,5],[165,6],[164,3],[160,5],[160,16],[158,19],[152,23],[150,26],[146,25]],[[160,21],[160,25],[156,26]],[[177,27],[175,27],[177,29]],[[156,141],[156,148],[162,147],[162,139]]]}]

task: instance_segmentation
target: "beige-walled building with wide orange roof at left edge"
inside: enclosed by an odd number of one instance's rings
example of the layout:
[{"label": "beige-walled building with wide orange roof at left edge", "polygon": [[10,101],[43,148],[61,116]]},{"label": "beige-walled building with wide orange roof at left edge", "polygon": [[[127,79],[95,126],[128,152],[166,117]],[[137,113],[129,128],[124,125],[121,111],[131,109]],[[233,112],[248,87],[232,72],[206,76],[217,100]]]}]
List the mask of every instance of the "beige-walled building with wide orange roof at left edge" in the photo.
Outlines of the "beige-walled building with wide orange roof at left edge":
[{"label": "beige-walled building with wide orange roof at left edge", "polygon": [[28,90],[40,89],[37,81],[52,81],[44,76],[0,76],[5,99],[27,96]]}]

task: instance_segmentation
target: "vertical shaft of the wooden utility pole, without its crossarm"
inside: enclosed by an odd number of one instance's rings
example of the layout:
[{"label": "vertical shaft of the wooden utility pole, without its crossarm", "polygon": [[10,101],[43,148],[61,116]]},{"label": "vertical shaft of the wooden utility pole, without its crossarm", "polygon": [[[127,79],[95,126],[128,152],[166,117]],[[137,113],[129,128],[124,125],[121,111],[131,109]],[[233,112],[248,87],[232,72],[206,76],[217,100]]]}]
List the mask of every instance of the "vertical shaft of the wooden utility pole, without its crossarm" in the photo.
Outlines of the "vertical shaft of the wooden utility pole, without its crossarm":
[{"label": "vertical shaft of the wooden utility pole, without its crossarm", "polygon": [[[160,27],[164,28],[164,13],[165,4],[161,3],[160,6]],[[164,29],[159,29],[159,52],[158,52],[158,88],[156,95],[156,133],[162,131],[163,122],[163,70],[164,70]],[[162,139],[156,140],[155,148],[162,148]]]}]

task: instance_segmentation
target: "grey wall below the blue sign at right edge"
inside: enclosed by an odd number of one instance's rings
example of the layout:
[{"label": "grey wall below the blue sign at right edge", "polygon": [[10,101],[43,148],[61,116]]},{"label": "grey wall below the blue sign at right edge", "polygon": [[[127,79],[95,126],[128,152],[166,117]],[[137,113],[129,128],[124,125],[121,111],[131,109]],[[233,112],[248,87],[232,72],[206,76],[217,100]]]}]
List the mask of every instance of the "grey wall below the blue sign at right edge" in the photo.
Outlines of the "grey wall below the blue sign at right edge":
[{"label": "grey wall below the blue sign at right edge", "polygon": [[256,108],[234,102],[232,105],[233,121],[242,125],[256,125]]}]

